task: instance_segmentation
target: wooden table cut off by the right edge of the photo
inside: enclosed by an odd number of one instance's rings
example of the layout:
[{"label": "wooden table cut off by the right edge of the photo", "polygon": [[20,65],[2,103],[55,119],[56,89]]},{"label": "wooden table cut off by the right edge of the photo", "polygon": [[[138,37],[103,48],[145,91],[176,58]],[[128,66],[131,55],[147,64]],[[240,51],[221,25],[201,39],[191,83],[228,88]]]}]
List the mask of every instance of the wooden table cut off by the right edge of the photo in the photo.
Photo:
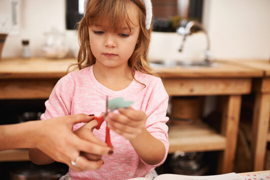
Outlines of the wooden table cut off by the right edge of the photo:
[{"label": "wooden table cut off by the right edge of the photo", "polygon": [[270,141],[270,62],[269,60],[250,59],[233,61],[238,66],[262,70],[263,76],[253,79],[252,89],[255,91],[253,107],[251,152],[253,170],[263,170],[266,144]]}]

